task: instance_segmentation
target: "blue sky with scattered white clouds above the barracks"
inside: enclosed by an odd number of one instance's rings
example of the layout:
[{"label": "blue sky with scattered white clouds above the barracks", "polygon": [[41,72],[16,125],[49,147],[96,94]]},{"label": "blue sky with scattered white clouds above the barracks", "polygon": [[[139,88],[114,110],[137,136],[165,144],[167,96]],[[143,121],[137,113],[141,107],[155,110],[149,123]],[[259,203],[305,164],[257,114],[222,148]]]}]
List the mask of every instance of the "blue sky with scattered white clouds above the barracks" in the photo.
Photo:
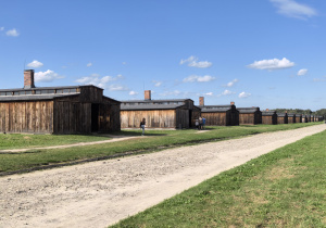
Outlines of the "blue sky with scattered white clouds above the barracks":
[{"label": "blue sky with scattered white clouds above the barracks", "polygon": [[325,107],[326,1],[0,2],[1,89],[92,84],[116,100]]}]

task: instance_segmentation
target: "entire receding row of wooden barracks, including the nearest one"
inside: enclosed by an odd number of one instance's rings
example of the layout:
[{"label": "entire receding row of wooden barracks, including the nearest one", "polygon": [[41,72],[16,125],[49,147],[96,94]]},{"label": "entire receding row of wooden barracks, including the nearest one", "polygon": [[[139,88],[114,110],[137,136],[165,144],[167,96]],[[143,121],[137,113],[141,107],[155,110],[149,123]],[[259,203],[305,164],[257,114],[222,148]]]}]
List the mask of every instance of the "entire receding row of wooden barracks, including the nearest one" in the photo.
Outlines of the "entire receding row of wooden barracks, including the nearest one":
[{"label": "entire receding row of wooden barracks, including the nearest one", "polygon": [[35,87],[34,71],[24,72],[24,87],[0,89],[0,132],[91,134],[121,128],[193,128],[200,116],[208,126],[290,124],[323,121],[322,116],[260,111],[260,107],[199,105],[191,99],[116,101],[96,86]]}]

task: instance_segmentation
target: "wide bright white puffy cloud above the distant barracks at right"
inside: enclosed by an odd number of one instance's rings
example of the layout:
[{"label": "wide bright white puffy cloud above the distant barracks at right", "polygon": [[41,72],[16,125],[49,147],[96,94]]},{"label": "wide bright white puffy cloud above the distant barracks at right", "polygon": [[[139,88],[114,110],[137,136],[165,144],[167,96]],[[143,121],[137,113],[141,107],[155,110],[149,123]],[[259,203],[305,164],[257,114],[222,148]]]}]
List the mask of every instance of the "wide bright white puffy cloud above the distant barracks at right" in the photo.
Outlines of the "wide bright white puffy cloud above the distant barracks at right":
[{"label": "wide bright white puffy cloud above the distant barracks at right", "polygon": [[294,66],[294,63],[290,62],[286,58],[283,58],[281,60],[273,59],[273,60],[254,61],[253,63],[248,65],[249,68],[268,69],[268,71],[289,68],[292,66]]}]

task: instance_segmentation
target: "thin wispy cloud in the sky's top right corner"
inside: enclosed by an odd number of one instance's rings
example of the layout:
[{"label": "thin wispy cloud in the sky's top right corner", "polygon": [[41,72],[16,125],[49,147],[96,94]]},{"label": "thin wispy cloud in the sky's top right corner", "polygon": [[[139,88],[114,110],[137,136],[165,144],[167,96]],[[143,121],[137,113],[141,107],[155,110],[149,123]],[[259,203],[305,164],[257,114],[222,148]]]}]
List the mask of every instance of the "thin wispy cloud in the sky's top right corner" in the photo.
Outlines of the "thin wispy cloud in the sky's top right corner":
[{"label": "thin wispy cloud in the sky's top right corner", "polygon": [[294,0],[271,0],[277,8],[277,12],[288,17],[306,20],[316,16],[317,12],[311,7],[296,2]]}]

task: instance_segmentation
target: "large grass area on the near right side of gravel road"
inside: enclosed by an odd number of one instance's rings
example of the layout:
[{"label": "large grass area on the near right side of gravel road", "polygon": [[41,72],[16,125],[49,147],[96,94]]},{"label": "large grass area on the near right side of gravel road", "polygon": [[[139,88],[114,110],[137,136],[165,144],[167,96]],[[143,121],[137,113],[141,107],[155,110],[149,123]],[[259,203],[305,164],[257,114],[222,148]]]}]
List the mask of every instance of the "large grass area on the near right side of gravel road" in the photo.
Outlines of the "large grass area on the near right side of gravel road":
[{"label": "large grass area on the near right side of gravel road", "polygon": [[326,227],[325,138],[262,155],[113,227]]}]

